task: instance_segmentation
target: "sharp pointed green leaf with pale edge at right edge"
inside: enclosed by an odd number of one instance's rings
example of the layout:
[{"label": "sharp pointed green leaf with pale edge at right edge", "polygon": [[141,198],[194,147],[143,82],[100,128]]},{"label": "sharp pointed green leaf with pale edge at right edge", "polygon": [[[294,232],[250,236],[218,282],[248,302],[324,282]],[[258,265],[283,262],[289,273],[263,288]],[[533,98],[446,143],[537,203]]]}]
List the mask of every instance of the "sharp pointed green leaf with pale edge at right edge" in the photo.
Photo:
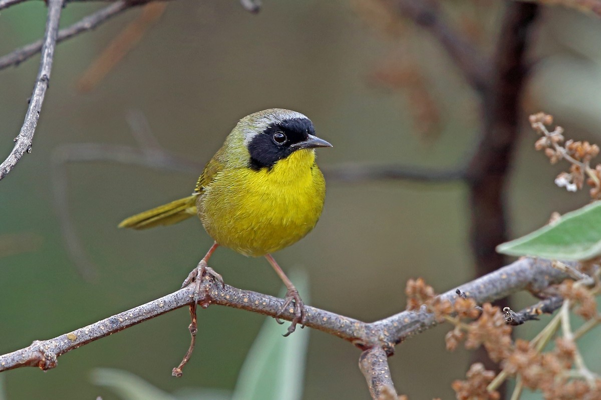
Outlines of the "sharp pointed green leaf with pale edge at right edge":
[{"label": "sharp pointed green leaf with pale edge at right edge", "polygon": [[534,232],[502,243],[496,251],[555,260],[588,260],[601,255],[601,201],[562,215]]}]

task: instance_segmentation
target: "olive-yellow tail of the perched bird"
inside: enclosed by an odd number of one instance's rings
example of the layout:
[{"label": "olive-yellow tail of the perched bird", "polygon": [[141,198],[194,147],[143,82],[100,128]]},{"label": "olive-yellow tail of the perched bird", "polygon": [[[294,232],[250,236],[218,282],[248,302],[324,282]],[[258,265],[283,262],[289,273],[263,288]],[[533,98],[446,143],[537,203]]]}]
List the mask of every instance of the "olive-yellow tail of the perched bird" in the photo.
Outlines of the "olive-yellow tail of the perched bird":
[{"label": "olive-yellow tail of the perched bird", "polygon": [[148,211],[123,219],[120,228],[146,229],[157,225],[171,225],[196,215],[197,194],[171,201]]}]

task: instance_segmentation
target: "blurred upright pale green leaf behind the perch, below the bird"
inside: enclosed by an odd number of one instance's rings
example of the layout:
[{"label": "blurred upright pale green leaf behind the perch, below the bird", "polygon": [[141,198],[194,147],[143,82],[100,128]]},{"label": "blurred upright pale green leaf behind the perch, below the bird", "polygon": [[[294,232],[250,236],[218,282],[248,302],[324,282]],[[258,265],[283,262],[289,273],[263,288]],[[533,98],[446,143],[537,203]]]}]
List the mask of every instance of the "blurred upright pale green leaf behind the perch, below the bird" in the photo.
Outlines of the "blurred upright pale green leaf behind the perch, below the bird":
[{"label": "blurred upright pale green leaf behind the perch, below the bird", "polygon": [[[291,273],[290,280],[308,302],[307,276]],[[297,327],[287,338],[282,333],[285,329],[267,318],[242,365],[232,400],[302,398],[309,330]]]}]

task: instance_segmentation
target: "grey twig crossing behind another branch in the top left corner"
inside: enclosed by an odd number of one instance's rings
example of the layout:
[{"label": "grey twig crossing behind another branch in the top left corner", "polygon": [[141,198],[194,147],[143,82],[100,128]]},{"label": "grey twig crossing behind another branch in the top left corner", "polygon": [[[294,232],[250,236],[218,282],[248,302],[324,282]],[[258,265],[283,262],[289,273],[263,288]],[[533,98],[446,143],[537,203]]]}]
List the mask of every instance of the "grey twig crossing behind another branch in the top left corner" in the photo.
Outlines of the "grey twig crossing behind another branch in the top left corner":
[{"label": "grey twig crossing behind another branch in the top left corner", "polygon": [[[128,8],[139,4],[143,3],[118,0],[99,11],[96,11],[96,13],[84,17],[79,22],[76,22],[67,28],[61,29],[56,37],[56,43],[60,43],[63,40],[72,38],[73,36],[81,34],[82,32],[90,31],[101,23],[106,22],[106,20],[110,19],[111,17],[121,13],[121,11],[127,10]],[[41,47],[42,41],[38,40],[34,43],[20,47],[20,49],[14,50],[12,53],[8,53],[7,55],[0,57],[0,70],[9,67],[10,65],[19,65],[29,57],[40,52]]]}]

